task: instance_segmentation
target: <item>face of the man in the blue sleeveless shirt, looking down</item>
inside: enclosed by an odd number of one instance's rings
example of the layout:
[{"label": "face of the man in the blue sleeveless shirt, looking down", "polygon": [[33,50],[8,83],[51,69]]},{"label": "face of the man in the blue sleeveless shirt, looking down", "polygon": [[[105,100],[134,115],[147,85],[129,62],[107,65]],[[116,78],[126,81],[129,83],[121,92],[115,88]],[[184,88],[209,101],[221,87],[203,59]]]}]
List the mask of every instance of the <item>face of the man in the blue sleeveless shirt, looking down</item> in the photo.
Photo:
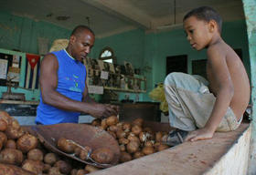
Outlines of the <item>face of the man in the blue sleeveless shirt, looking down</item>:
[{"label": "face of the man in the blue sleeveless shirt, looking down", "polygon": [[95,37],[89,30],[82,31],[77,36],[70,37],[70,44],[72,46],[71,55],[78,61],[82,61],[87,57],[94,45]]}]

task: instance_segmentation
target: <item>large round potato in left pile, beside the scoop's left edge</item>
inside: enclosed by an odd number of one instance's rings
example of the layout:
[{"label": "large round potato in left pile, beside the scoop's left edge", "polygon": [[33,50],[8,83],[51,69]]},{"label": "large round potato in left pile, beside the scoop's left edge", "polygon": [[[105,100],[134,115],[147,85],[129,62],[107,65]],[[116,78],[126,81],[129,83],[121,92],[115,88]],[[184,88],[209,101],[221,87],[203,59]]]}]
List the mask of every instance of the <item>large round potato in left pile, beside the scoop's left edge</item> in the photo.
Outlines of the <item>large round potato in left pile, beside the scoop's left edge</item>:
[{"label": "large round potato in left pile, beside the scoop's left edge", "polygon": [[22,152],[28,152],[31,149],[36,149],[38,140],[35,136],[31,134],[25,134],[16,141],[17,149],[20,149]]}]

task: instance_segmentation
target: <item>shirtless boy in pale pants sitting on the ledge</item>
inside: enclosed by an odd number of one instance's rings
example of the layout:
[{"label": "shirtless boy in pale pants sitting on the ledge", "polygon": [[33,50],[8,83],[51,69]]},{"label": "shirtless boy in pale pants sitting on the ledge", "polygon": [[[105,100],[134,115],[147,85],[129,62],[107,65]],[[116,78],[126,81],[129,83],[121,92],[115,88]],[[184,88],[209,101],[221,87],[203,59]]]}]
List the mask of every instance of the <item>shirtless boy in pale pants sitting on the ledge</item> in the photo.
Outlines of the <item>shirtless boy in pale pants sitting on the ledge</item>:
[{"label": "shirtless boy in pale pants sitting on the ledge", "polygon": [[251,88],[240,57],[221,38],[221,17],[211,7],[193,9],[184,19],[189,44],[207,49],[207,77],[171,73],[165,78],[169,120],[176,128],[164,138],[169,145],[211,139],[215,131],[240,126]]}]

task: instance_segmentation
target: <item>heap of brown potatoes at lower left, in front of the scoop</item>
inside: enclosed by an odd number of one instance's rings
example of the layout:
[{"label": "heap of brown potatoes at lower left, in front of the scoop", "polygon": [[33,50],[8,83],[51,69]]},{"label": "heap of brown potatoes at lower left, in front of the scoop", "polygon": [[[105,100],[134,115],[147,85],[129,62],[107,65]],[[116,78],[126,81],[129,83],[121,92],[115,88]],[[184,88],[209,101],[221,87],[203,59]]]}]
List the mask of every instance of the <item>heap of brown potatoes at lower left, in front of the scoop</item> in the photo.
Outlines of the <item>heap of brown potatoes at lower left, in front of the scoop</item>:
[{"label": "heap of brown potatoes at lower left, in front of the scoop", "polygon": [[[23,170],[42,175],[84,175],[99,170],[91,165],[61,158],[45,149],[37,137],[29,134],[19,126],[15,118],[5,111],[0,111],[0,167],[5,169],[15,165]],[[4,168],[2,168],[4,170]],[[0,175],[14,175],[14,170],[3,172]],[[24,173],[27,174],[26,171]]]}]

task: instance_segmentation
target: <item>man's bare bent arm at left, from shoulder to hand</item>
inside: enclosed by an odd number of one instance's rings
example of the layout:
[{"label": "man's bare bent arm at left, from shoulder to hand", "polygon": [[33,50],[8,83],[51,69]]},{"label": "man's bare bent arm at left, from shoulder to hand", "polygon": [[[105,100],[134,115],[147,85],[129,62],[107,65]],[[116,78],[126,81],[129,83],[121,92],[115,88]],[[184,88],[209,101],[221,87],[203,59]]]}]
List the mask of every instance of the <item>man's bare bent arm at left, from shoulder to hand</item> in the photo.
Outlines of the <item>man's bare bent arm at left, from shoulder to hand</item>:
[{"label": "man's bare bent arm at left, from shoulder to hand", "polygon": [[96,118],[109,117],[116,113],[112,108],[72,100],[60,94],[56,90],[58,86],[58,69],[59,63],[57,57],[53,54],[43,58],[40,67],[39,83],[44,103],[63,110],[89,113]]}]

